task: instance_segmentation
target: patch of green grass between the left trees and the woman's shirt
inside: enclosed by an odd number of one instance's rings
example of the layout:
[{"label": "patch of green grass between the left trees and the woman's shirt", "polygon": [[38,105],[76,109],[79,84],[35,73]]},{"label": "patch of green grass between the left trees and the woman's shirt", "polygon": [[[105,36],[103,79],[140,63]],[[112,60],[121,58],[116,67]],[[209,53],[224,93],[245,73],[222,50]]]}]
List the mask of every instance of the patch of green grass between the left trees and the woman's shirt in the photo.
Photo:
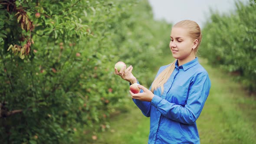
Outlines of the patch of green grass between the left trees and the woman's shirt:
[{"label": "patch of green grass between the left trees and the woman's shirt", "polygon": [[110,132],[102,133],[95,144],[147,144],[150,119],[131,100],[130,111],[111,120]]}]

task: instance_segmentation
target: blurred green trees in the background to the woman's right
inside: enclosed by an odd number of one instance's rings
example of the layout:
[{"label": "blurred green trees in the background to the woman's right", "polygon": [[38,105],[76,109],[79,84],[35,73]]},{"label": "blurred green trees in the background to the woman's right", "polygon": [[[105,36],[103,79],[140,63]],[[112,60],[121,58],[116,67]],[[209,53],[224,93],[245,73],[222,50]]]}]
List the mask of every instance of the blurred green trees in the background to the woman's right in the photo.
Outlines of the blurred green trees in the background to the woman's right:
[{"label": "blurred green trees in the background to the woman's right", "polygon": [[[256,91],[256,3],[236,3],[230,16],[212,13],[203,29],[202,56],[237,75],[249,91]],[[210,55],[209,55],[210,53]]]}]

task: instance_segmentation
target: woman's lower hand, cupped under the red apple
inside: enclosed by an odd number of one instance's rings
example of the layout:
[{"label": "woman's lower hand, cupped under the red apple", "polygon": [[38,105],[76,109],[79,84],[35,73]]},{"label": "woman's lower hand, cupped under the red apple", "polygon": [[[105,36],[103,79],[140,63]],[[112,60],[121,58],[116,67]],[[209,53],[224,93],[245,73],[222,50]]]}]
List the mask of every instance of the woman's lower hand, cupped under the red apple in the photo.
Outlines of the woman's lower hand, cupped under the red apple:
[{"label": "woman's lower hand, cupped under the red apple", "polygon": [[151,92],[148,88],[145,88],[142,85],[138,85],[138,87],[141,88],[143,90],[143,92],[135,94],[135,93],[129,91],[131,94],[131,98],[138,99],[140,101],[151,102],[152,98],[154,97],[153,92]]}]

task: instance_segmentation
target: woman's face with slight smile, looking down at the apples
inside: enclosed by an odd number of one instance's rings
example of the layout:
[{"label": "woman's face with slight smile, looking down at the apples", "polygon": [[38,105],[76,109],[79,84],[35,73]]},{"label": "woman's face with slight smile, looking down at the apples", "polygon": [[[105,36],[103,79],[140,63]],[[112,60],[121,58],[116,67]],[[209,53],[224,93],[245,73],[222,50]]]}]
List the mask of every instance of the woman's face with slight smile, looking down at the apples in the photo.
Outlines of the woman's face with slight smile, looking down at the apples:
[{"label": "woman's face with slight smile, looking down at the apples", "polygon": [[[198,42],[198,40],[197,40]],[[195,41],[188,35],[188,30],[180,27],[173,27],[171,30],[170,49],[172,56],[180,61],[189,62],[195,58],[193,48]]]}]

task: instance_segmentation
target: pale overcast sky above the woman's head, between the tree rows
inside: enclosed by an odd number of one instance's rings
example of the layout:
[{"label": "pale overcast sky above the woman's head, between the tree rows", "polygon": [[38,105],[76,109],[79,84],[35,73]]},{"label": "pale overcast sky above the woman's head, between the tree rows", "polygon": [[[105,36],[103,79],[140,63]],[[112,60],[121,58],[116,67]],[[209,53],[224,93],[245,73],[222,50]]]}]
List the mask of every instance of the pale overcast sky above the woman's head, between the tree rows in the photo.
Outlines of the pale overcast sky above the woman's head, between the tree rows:
[{"label": "pale overcast sky above the woman's head, between the tree rows", "polygon": [[[230,13],[236,9],[237,0],[148,0],[151,4],[154,18],[164,19],[170,23],[181,20],[194,20],[202,28],[210,16],[210,8],[219,13]],[[249,0],[240,0],[248,3]]]}]

